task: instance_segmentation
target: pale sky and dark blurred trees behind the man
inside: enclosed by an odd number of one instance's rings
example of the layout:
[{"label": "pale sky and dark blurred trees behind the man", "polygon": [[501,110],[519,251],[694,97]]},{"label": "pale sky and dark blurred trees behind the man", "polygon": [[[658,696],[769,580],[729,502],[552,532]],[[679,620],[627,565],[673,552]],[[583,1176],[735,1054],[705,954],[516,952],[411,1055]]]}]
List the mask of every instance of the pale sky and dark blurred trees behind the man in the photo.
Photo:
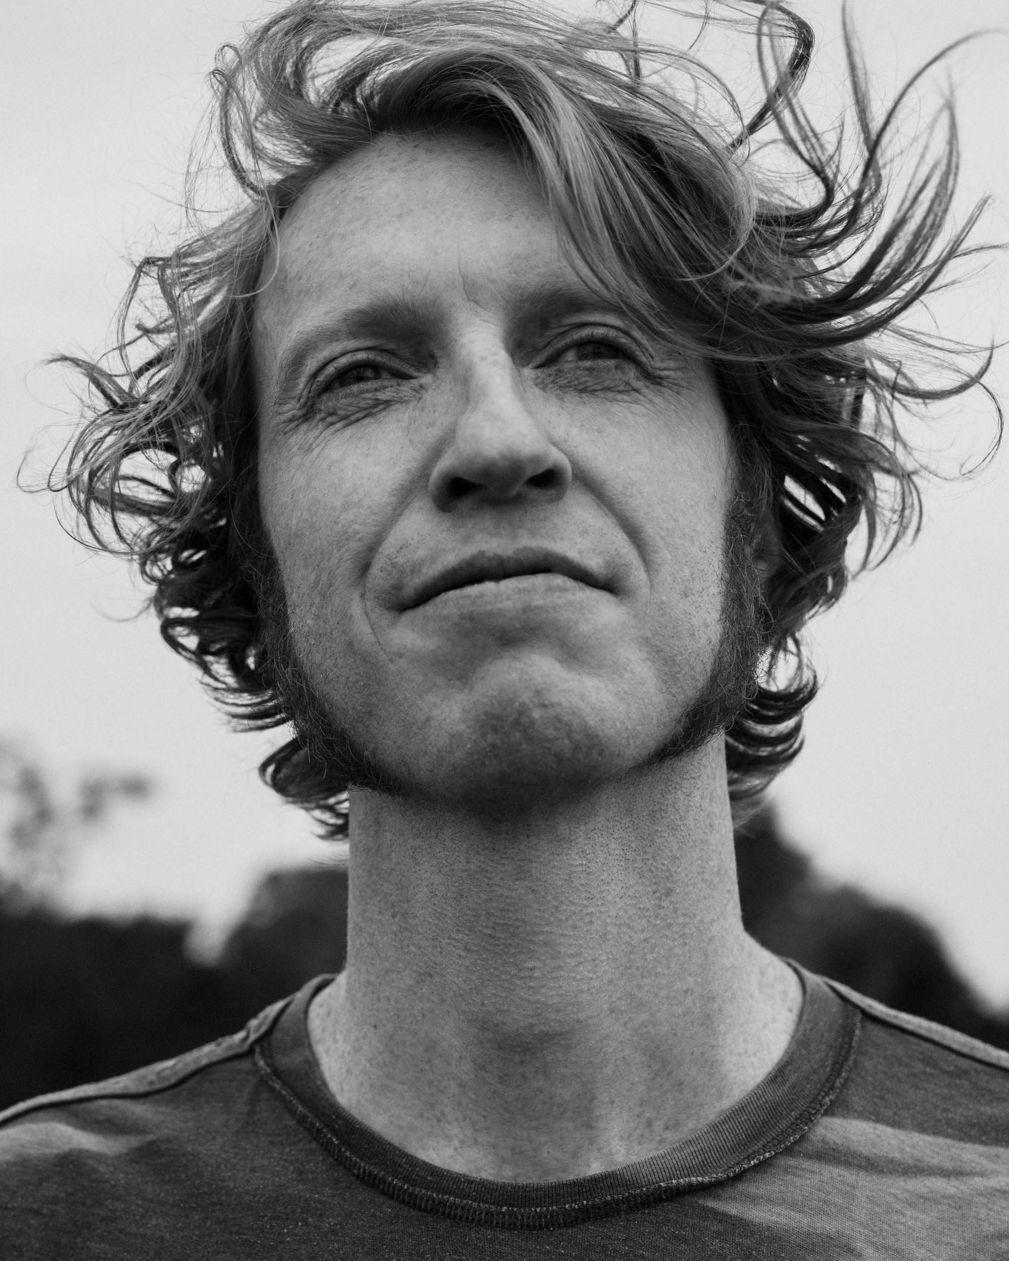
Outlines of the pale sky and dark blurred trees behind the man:
[{"label": "pale sky and dark blurred trees behind the man", "polygon": [[[795,6],[821,39],[807,97],[830,121],[843,103],[840,3]],[[137,615],[143,596],[122,566],[69,540],[48,496],[15,487],[26,451],[23,478],[44,477],[73,419],[69,382],[42,361],[106,344],[127,260],[180,222],[213,53],[272,8],[91,0],[5,18],[0,1105],[227,1033],[342,962],[341,854],[259,783],[271,741],[230,731]],[[945,44],[1005,20],[1004,0],[850,10],[880,100]],[[957,208],[993,195],[985,240],[1009,240],[1008,54],[1005,34],[969,44],[906,111],[908,134],[927,132],[956,84]],[[1005,339],[1006,279],[995,260],[937,301],[943,332]],[[990,378],[1003,397],[1008,358]],[[960,402],[937,435],[955,463],[990,438],[990,409]],[[815,624],[825,686],[806,749],[738,839],[761,939],[1000,1044],[1008,613],[1004,453],[969,482],[930,485],[921,540]]]}]

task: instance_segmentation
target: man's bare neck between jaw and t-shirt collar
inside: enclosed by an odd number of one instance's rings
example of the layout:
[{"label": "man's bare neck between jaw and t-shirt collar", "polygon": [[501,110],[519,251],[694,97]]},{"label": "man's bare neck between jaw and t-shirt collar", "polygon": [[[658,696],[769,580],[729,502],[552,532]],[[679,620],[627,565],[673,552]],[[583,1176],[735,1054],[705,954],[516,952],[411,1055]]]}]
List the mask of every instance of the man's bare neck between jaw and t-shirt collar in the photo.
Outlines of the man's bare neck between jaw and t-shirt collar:
[{"label": "man's bare neck between jaw and t-shirt collar", "polygon": [[742,927],[710,744],[537,815],[356,794],[348,963],[309,1028],[335,1097],[502,1180],[579,1177],[700,1129],[798,1008]]}]

